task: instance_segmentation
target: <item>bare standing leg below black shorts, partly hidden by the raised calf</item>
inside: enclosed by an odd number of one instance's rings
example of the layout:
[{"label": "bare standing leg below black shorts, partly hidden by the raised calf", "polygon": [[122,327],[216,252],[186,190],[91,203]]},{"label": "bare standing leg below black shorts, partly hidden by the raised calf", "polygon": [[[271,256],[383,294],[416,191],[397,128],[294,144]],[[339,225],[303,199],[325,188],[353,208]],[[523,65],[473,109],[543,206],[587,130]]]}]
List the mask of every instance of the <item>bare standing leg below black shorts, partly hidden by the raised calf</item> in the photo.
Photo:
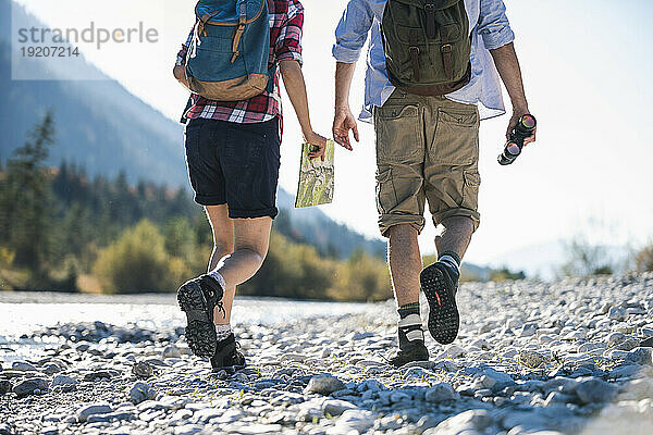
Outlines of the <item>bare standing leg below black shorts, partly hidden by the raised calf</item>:
[{"label": "bare standing leg below black shorts, partly hidden by the raised calf", "polygon": [[[234,221],[229,217],[229,208],[224,206],[208,206],[205,208],[211,228],[213,231],[213,251],[209,260],[209,272],[215,269],[221,258],[234,251]],[[226,325],[231,322],[231,311],[236,296],[236,286],[224,289],[222,303],[225,315],[215,308],[213,322],[217,325]]]}]

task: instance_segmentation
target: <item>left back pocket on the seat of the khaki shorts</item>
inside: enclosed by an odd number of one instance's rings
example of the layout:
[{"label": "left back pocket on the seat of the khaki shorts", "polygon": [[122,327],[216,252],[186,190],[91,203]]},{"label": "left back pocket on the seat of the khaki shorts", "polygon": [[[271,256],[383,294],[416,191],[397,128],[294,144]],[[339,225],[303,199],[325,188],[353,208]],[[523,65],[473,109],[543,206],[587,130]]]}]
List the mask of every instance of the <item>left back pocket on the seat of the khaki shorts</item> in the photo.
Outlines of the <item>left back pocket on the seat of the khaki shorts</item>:
[{"label": "left back pocket on the seat of the khaki shorts", "polygon": [[419,105],[386,104],[374,110],[377,162],[417,163],[424,157]]}]

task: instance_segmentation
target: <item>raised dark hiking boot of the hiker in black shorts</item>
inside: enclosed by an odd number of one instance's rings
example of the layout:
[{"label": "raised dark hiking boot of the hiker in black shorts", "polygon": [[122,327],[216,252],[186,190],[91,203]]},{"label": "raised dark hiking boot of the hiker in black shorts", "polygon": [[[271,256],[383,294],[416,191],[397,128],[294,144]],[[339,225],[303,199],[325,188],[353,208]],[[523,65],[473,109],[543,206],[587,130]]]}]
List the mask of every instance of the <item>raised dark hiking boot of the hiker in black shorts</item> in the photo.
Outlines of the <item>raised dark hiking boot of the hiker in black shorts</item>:
[{"label": "raised dark hiking boot of the hiker in black shorts", "polygon": [[188,281],[177,291],[177,302],[186,313],[186,340],[198,357],[210,358],[215,353],[215,326],[213,310],[218,307],[223,313],[224,290],[209,275]]}]

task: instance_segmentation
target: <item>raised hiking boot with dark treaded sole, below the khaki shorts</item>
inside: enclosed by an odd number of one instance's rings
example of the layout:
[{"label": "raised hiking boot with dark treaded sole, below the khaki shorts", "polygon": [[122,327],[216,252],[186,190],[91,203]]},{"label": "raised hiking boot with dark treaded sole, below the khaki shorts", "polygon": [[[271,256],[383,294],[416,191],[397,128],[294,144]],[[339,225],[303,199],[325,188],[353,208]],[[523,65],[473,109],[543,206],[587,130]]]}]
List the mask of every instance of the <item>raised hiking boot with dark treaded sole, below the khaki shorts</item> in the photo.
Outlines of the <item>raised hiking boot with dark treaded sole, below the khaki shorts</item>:
[{"label": "raised hiking boot with dark treaded sole, below the khaki shorts", "polygon": [[456,307],[458,278],[442,263],[433,263],[419,275],[421,288],[429,301],[429,333],[441,345],[458,336],[460,315]]}]

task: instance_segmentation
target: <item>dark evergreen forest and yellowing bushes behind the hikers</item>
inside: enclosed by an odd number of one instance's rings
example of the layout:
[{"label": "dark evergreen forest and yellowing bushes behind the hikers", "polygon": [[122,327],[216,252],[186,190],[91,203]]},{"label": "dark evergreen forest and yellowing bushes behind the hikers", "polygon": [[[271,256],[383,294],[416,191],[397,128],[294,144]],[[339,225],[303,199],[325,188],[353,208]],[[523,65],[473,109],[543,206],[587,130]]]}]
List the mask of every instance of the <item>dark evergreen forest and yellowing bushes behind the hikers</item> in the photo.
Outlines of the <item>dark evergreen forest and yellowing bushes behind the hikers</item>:
[{"label": "dark evergreen forest and yellowing bushes behind the hikers", "polygon": [[[48,167],[45,161],[54,146],[49,113],[0,162],[0,288],[174,291],[206,271],[211,228],[186,190],[148,182],[131,185],[124,173],[89,177],[70,162]],[[331,300],[392,297],[383,259],[359,249],[340,260],[298,238],[282,213],[261,271],[238,293]]]}]

